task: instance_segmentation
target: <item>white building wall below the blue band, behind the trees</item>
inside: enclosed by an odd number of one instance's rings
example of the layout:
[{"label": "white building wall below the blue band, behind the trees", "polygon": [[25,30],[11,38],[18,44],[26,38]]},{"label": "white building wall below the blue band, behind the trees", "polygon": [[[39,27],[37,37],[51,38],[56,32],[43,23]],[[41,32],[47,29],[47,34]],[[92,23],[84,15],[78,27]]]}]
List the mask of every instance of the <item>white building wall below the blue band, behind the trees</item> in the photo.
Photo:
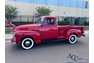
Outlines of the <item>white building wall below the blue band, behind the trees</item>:
[{"label": "white building wall below the blue band, behind the trees", "polygon": [[89,17],[89,10],[83,8],[72,8],[63,6],[47,6],[42,4],[32,4],[23,2],[6,1],[6,5],[12,5],[18,8],[19,15],[34,15],[35,8],[39,6],[49,7],[53,12],[53,16],[73,16],[73,17]]}]

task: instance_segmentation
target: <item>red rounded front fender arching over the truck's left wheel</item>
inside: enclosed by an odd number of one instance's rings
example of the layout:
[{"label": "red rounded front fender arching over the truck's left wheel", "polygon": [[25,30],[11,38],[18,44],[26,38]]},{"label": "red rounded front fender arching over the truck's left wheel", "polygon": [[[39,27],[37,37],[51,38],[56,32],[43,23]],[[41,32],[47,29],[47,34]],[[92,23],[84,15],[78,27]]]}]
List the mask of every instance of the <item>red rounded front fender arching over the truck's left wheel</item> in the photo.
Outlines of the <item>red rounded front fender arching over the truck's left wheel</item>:
[{"label": "red rounded front fender arching over the truck's left wheel", "polygon": [[16,44],[19,44],[23,38],[30,37],[36,44],[41,43],[40,33],[36,31],[17,31],[15,32]]}]

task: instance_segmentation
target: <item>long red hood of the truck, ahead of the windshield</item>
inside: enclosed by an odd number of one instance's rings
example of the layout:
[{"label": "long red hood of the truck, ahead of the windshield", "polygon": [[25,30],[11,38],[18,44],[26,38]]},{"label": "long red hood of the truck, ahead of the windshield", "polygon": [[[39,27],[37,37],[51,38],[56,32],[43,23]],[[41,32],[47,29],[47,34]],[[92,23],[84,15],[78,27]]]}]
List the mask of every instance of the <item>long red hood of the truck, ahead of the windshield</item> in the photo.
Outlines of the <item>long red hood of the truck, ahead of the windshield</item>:
[{"label": "long red hood of the truck, ahead of the windshield", "polygon": [[14,31],[31,31],[34,29],[38,29],[41,26],[41,24],[27,24],[27,25],[20,25],[15,28]]}]

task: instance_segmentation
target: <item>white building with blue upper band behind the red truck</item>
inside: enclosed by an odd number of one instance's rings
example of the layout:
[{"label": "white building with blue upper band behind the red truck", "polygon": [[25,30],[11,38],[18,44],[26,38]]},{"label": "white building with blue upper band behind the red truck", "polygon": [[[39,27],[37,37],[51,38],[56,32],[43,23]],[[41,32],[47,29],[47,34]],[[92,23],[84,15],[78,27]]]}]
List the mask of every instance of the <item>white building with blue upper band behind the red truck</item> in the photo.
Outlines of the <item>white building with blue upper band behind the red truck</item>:
[{"label": "white building with blue upper band behind the red truck", "polygon": [[18,8],[15,21],[32,21],[35,8],[41,6],[53,10],[51,16],[57,16],[60,21],[68,20],[71,24],[83,24],[89,18],[88,0],[6,0],[6,5]]}]

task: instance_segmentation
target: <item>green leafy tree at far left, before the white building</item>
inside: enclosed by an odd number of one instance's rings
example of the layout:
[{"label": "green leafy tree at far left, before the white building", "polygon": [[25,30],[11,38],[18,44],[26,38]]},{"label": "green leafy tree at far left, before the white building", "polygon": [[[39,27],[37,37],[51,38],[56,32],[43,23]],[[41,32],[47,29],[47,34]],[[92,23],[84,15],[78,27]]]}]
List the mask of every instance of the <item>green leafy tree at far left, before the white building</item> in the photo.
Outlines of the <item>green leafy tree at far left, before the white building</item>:
[{"label": "green leafy tree at far left, before the white building", "polygon": [[18,14],[17,8],[13,6],[6,5],[5,6],[5,18],[7,21],[11,21],[16,18]]}]

